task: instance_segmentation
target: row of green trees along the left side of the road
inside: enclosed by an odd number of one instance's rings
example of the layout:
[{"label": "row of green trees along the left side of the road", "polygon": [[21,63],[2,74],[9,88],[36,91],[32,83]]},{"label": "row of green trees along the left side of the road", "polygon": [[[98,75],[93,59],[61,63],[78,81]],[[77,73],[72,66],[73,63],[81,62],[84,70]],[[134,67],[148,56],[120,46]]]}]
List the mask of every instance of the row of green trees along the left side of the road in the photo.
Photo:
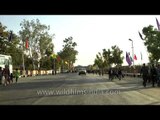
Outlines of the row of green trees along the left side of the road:
[{"label": "row of green trees along the left side of the road", "polygon": [[[76,61],[78,51],[73,37],[63,40],[63,49],[55,53],[53,39],[49,34],[50,26],[42,24],[39,19],[23,20],[18,34],[0,22],[0,54],[11,55],[13,68],[25,67],[26,70],[53,69],[53,59],[58,69],[71,69]],[[55,58],[52,55],[55,55]],[[24,64],[24,66],[23,66]]]}]

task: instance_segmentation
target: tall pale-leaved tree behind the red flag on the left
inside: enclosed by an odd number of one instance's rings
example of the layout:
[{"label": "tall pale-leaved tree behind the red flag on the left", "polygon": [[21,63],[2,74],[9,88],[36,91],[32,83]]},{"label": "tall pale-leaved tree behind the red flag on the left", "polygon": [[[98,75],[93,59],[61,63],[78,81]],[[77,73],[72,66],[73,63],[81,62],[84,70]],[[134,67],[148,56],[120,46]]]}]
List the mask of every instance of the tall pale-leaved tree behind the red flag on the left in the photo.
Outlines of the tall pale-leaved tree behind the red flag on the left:
[{"label": "tall pale-leaved tree behind the red flag on the left", "polygon": [[[52,38],[54,35],[49,35],[48,31],[50,30],[50,26],[41,24],[38,19],[36,19],[36,21],[23,20],[20,26],[21,30],[19,34],[23,51],[27,52],[29,57],[32,58],[33,68],[35,68],[34,63],[36,61],[40,63],[39,61],[41,58],[46,54],[49,55],[49,49],[52,49],[53,52],[54,45],[52,43]],[[25,41],[27,38],[29,40],[29,49],[25,49]]]}]

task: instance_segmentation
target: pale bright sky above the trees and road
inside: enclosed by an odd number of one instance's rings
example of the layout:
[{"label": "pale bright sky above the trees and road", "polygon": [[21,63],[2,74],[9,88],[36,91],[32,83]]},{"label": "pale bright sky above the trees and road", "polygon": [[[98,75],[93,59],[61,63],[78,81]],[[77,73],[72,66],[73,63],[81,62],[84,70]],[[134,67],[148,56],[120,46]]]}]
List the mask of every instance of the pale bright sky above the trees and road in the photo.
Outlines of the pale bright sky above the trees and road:
[{"label": "pale bright sky above the trees and road", "polygon": [[7,30],[18,34],[23,19],[39,19],[41,24],[50,25],[50,34],[55,34],[55,52],[62,50],[63,40],[72,36],[78,51],[75,66],[94,64],[98,52],[114,45],[123,51],[123,65],[128,65],[125,56],[126,52],[132,54],[132,42],[129,41],[132,39],[137,56],[134,64],[139,65],[149,60],[138,31],[142,33],[142,29],[149,25],[157,28],[156,18],[160,20],[158,15],[0,15],[0,22],[7,26]]}]

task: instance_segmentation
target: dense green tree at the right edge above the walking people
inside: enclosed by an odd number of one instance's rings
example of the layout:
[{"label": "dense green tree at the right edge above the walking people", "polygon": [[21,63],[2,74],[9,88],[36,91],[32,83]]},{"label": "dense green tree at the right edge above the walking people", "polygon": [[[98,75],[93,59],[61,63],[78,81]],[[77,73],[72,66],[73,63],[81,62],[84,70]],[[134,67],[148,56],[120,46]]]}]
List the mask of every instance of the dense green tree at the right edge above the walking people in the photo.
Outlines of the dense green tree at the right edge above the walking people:
[{"label": "dense green tree at the right edge above the walking people", "polygon": [[152,25],[144,27],[142,32],[145,35],[144,45],[149,52],[150,62],[158,63],[160,59],[160,32],[154,29]]}]

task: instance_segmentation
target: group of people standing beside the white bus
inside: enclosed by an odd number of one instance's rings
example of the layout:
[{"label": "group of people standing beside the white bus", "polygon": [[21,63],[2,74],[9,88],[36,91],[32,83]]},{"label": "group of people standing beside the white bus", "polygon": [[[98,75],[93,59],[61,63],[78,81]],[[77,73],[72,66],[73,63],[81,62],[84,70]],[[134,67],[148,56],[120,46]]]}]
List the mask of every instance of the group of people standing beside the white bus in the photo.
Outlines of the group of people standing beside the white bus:
[{"label": "group of people standing beside the white bus", "polygon": [[[13,73],[10,73],[9,67],[7,65],[5,65],[4,69],[0,67],[0,84],[7,86],[13,83],[13,77],[15,77],[15,82],[17,83],[19,78],[18,69],[16,69],[15,76],[13,76]],[[3,80],[4,82],[2,82]]]}]

